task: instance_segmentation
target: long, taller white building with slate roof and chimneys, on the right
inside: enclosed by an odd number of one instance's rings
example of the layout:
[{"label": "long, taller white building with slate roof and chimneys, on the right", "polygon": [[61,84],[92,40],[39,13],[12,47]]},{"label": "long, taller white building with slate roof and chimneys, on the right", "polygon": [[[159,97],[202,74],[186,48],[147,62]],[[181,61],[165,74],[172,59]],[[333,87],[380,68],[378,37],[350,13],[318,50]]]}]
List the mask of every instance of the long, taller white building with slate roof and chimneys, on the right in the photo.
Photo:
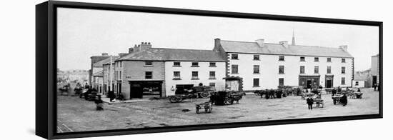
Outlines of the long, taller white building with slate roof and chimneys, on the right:
[{"label": "long, taller white building with slate roof and chimneys, on the right", "polygon": [[215,39],[214,51],[227,59],[227,86],[232,90],[277,89],[277,86],[352,86],[354,57],[347,46],[302,46]]}]

